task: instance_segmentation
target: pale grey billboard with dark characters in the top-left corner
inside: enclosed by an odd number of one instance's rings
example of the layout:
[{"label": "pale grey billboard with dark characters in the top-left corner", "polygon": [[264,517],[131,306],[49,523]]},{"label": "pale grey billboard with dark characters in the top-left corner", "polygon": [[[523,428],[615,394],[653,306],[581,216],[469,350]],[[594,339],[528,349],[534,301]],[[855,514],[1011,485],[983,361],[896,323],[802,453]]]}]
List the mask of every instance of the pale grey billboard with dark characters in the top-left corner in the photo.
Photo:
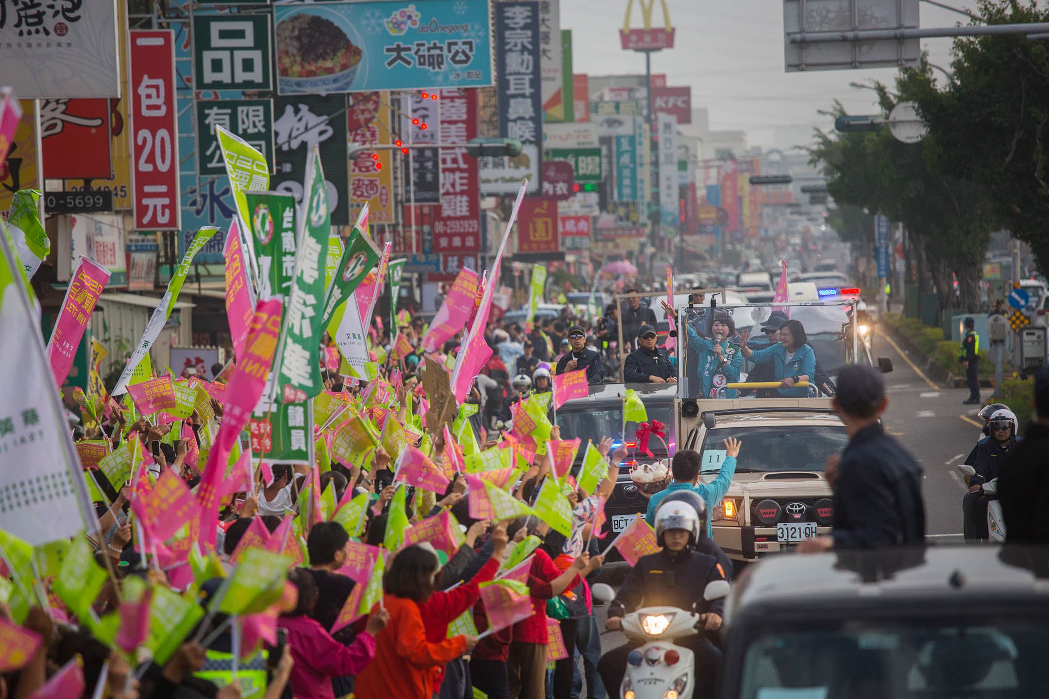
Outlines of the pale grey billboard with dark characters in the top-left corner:
[{"label": "pale grey billboard with dark characters in the top-left corner", "polygon": [[121,96],[116,2],[0,2],[0,79],[23,100]]}]

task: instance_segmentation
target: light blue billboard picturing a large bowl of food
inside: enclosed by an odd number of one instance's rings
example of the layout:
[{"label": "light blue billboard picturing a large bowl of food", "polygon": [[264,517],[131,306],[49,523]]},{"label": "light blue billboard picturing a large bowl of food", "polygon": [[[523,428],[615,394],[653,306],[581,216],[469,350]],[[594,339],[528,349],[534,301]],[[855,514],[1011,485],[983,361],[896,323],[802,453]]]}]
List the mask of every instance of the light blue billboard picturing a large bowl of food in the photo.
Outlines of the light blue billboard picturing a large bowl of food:
[{"label": "light blue billboard picturing a large bowl of food", "polygon": [[327,94],[489,86],[488,6],[447,0],[277,5],[277,89]]}]

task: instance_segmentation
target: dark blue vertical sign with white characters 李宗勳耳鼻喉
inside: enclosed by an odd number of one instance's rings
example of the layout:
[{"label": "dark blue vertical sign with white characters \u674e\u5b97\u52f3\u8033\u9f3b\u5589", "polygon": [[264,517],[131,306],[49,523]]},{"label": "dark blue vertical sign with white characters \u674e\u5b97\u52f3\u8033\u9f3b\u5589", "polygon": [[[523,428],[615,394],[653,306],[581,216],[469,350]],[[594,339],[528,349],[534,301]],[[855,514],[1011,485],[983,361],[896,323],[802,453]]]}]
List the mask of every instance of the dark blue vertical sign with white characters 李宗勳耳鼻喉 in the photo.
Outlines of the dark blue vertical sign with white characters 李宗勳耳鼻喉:
[{"label": "dark blue vertical sign with white characters \u674e\u5b97\u52f3\u8033\u9f3b\u5589", "polygon": [[540,191],[542,160],[542,77],[539,56],[539,3],[495,4],[499,135],[521,141],[515,157],[485,157],[480,187],[486,194],[513,194],[522,177],[528,192]]}]

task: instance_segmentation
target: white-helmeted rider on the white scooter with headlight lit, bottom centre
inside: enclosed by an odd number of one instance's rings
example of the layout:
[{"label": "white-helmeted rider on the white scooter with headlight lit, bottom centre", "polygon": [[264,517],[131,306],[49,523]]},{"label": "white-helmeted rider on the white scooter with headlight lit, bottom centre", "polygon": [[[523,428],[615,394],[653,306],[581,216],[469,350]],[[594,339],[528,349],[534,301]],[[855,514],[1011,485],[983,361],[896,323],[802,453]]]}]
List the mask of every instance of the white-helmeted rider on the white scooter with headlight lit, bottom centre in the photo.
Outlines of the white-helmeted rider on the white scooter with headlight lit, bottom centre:
[{"label": "white-helmeted rider on the white scooter with headlight lit, bottom centre", "polygon": [[[630,569],[608,607],[606,629],[622,629],[625,613],[655,606],[695,610],[706,631],[721,628],[724,602],[707,602],[703,591],[708,583],[725,580],[725,570],[718,559],[695,550],[700,540],[706,537],[704,523],[707,519],[706,504],[699,496],[697,500],[698,507],[680,499],[668,499],[660,505],[656,512],[656,540],[662,550],[641,556]],[[675,643],[695,654],[694,699],[714,697],[721,676],[721,651],[705,634],[680,638]],[[619,693],[627,656],[642,645],[640,639],[628,639],[625,645],[601,656],[598,672],[609,693]]]}]

